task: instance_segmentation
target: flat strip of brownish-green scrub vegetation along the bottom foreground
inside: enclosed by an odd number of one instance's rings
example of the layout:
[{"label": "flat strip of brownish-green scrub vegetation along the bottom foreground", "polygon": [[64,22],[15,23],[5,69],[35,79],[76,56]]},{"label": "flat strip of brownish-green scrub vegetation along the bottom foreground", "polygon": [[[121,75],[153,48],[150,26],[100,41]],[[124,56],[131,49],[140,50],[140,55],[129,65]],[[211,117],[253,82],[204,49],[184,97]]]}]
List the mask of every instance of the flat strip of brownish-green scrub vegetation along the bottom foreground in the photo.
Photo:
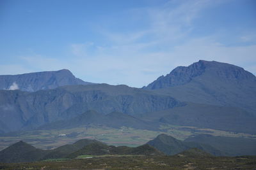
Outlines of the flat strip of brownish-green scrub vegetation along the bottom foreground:
[{"label": "flat strip of brownish-green scrub vegetation along the bottom foreground", "polygon": [[255,169],[256,157],[136,156],[3,164],[0,169]]}]

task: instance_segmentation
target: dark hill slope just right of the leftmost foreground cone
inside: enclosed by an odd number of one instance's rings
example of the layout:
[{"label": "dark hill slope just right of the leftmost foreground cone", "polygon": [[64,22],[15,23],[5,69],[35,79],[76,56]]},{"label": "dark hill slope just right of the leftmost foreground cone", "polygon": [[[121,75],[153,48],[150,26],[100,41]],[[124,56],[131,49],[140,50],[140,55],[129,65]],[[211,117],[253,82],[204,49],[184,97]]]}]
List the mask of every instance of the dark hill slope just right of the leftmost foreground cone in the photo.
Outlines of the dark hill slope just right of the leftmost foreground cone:
[{"label": "dark hill slope just right of the leftmost foreground cone", "polygon": [[90,145],[92,143],[100,143],[99,141],[93,139],[81,139],[72,145],[63,145],[54,150],[49,151],[42,159],[60,159],[67,157],[70,153],[80,150],[84,146]]}]

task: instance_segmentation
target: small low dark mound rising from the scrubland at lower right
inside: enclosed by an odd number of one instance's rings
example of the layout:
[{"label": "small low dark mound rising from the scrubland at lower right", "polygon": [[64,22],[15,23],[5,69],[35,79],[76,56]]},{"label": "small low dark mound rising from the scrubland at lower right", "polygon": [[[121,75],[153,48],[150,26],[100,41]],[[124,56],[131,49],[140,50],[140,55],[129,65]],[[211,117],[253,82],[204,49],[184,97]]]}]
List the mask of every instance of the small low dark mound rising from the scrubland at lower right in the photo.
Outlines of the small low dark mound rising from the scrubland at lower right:
[{"label": "small low dark mound rising from the scrubland at lower right", "polygon": [[198,148],[190,148],[177,154],[177,157],[190,157],[190,158],[211,158],[213,155],[204,152]]}]

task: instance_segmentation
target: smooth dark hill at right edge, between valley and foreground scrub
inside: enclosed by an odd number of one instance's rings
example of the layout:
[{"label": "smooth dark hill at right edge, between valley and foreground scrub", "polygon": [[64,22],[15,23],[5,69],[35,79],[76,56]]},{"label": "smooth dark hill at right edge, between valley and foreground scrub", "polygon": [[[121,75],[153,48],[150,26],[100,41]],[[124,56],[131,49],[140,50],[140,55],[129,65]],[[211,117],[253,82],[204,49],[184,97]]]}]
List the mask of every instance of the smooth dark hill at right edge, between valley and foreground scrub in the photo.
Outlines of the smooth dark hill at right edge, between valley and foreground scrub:
[{"label": "smooth dark hill at right edge, between valley and foreground scrub", "polygon": [[225,152],[228,156],[256,155],[256,139],[200,134],[185,139],[185,141],[211,145],[214,148]]}]

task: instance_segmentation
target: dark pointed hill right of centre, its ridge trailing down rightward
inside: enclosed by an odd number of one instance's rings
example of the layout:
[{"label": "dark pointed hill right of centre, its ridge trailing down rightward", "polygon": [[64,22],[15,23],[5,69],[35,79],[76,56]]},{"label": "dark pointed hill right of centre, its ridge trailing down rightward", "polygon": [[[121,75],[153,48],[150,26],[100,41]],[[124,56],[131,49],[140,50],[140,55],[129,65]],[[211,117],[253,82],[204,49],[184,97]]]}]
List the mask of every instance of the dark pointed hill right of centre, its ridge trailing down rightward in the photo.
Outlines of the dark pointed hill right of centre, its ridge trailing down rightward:
[{"label": "dark pointed hill right of centre, its ridge trailing down rightward", "polygon": [[204,150],[204,152],[211,153],[212,155],[216,156],[225,155],[225,153],[210,145],[189,141],[180,141],[166,134],[159,134],[159,136],[157,136],[155,139],[148,141],[148,145],[157,148],[157,150],[166,153],[166,155],[175,155],[177,153],[184,152],[189,148],[198,148],[200,150]]}]

